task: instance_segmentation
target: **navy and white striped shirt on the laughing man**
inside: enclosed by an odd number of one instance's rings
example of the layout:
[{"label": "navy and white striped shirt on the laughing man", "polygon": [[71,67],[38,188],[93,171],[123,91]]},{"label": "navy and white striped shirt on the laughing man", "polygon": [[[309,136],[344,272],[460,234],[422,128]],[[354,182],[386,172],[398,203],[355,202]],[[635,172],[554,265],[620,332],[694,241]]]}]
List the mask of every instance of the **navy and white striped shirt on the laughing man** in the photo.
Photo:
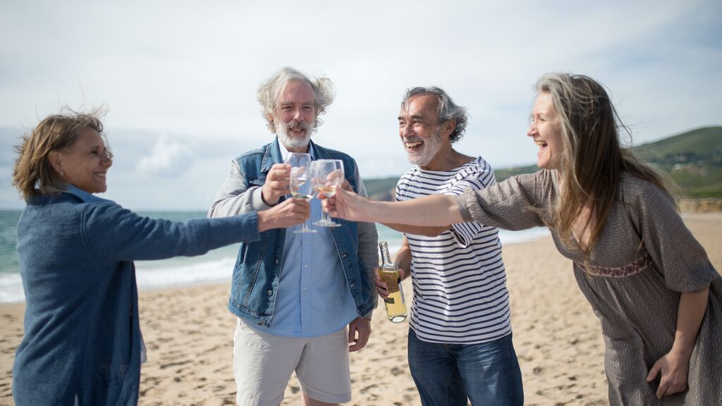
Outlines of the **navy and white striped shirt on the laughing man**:
[{"label": "navy and white striped shirt on the laughing man", "polygon": [[[494,183],[494,171],[482,157],[454,170],[416,167],[399,180],[396,200],[461,194],[466,188],[484,189]],[[498,234],[496,228],[479,223],[456,224],[437,237],[406,233],[414,284],[410,324],[421,340],[474,344],[511,332]]]}]

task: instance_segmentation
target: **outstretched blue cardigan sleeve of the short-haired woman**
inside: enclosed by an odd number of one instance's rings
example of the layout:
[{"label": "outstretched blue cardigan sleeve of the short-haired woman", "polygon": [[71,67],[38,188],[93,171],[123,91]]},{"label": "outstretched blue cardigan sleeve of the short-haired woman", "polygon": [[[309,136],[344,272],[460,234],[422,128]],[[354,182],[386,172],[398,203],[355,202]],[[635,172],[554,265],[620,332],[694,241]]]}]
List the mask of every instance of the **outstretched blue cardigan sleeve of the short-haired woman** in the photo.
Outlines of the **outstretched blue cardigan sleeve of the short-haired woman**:
[{"label": "outstretched blue cardigan sleeve of the short-haired woman", "polygon": [[84,243],[101,261],[196,256],[259,238],[256,212],[177,223],[142,217],[118,204],[92,204],[83,214],[82,227]]}]

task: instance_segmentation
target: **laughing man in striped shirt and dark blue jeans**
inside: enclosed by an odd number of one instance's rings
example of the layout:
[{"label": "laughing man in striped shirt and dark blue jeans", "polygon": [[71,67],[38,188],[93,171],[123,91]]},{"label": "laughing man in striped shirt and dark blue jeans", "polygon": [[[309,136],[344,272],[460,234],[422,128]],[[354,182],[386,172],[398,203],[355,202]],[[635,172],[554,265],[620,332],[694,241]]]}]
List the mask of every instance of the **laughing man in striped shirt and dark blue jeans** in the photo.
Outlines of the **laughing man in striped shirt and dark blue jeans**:
[{"label": "laughing man in striped shirt and dark blue jeans", "polygon": [[[482,157],[452,147],[466,120],[466,109],[438,87],[406,91],[399,136],[417,166],[399,180],[396,200],[458,195],[496,183]],[[522,405],[498,230],[479,223],[388,226],[404,232],[395,262],[414,285],[409,369],[422,405],[466,406],[467,398],[472,405]],[[378,277],[376,288],[386,298],[386,283]]]}]

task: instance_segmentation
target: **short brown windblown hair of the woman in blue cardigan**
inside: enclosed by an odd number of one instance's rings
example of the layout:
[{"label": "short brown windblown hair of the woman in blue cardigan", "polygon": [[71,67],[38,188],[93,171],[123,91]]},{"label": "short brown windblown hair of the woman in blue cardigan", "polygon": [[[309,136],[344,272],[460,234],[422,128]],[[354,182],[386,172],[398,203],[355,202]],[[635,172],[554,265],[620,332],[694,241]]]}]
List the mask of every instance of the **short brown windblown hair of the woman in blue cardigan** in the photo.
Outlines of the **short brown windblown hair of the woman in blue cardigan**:
[{"label": "short brown windblown hair of the woman in blue cardigan", "polygon": [[77,113],[64,108],[58,114],[45,117],[30,134],[22,136],[22,143],[14,147],[18,156],[12,170],[12,185],[26,202],[31,196],[57,194],[65,189],[67,183],[53,169],[50,153],[70,147],[77,142],[84,129],[94,129],[100,133],[108,157],[112,159],[100,121],[103,113],[100,109]]}]

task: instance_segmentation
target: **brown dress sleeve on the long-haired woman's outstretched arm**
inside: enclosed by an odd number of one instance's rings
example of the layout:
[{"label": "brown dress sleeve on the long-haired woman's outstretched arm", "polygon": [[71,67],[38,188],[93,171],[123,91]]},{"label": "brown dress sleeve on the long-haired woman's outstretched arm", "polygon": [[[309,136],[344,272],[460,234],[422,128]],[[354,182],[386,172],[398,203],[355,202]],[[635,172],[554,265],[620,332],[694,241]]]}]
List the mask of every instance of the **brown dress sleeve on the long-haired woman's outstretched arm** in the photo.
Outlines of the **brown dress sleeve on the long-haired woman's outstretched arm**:
[{"label": "brown dress sleeve on the long-haired woman's outstretched arm", "polygon": [[551,172],[540,170],[513,176],[486,189],[466,189],[458,196],[464,221],[505,230],[526,230],[544,225],[541,213],[552,199]]}]

